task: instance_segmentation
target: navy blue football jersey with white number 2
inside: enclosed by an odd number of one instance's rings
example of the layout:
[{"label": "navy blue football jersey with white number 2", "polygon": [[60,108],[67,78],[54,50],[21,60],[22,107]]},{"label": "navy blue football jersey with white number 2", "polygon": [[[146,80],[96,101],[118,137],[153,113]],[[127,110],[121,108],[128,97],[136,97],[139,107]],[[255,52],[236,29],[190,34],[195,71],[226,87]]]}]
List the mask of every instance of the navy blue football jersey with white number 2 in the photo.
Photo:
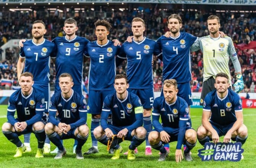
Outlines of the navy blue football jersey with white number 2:
[{"label": "navy blue football jersey with white number 2", "polygon": [[112,41],[99,45],[97,41],[87,44],[85,55],[90,57],[89,90],[114,89],[116,74],[115,55],[120,46],[114,46]]}]

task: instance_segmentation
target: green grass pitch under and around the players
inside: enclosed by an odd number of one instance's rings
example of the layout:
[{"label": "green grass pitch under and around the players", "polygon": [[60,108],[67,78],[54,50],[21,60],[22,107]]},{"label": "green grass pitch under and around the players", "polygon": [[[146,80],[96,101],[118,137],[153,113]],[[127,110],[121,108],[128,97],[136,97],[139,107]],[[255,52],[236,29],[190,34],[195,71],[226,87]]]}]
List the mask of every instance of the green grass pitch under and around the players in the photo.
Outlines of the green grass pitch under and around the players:
[{"label": "green grass pitch under and around the players", "polygon": [[[196,147],[191,151],[193,161],[186,162],[183,160],[180,163],[175,162],[175,147],[176,142],[170,143],[170,154],[165,162],[157,162],[159,158],[158,151],[152,150],[152,156],[145,156],[144,149],[145,143],[138,147],[139,153],[136,155],[136,159],[133,161],[127,160],[126,156],[121,154],[119,160],[110,160],[111,155],[106,151],[106,146],[99,143],[99,153],[92,155],[85,155],[84,160],[76,160],[75,154],[73,154],[73,139],[64,140],[64,145],[67,150],[67,155],[64,156],[61,160],[54,160],[54,154],[47,154],[44,158],[35,158],[36,150],[37,150],[37,141],[34,134],[31,134],[31,148],[32,152],[24,153],[21,158],[13,158],[15,154],[16,146],[10,143],[2,133],[2,125],[7,121],[6,119],[6,105],[0,105],[0,125],[1,125],[1,133],[0,133],[0,167],[93,167],[93,168],[107,168],[107,167],[119,167],[119,168],[165,168],[165,167],[228,167],[228,168],[253,168],[256,167],[256,110],[255,109],[243,109],[244,115],[244,124],[248,128],[248,139],[246,143],[243,145],[243,149],[245,150],[243,153],[244,160],[240,162],[202,162],[201,158],[197,156],[198,149],[202,149],[203,147],[197,143]],[[193,128],[198,128],[201,124],[201,108],[192,108],[191,109],[191,119],[193,123]],[[87,124],[91,125],[91,115],[88,114]],[[23,136],[20,136],[23,141]],[[222,137],[223,138],[223,137]],[[124,151],[128,149],[130,142],[125,141],[121,143]],[[83,146],[83,152],[87,151],[87,149],[91,147],[91,138],[88,138],[86,144]],[[53,150],[55,146],[51,144],[51,149]]]}]

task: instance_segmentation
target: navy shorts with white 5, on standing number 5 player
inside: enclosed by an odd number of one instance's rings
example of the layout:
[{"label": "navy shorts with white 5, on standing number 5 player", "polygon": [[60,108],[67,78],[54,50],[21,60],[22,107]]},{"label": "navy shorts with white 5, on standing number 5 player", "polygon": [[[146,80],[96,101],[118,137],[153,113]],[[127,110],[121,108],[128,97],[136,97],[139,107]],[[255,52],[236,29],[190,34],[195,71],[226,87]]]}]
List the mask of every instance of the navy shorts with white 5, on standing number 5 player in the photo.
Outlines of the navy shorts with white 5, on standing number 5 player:
[{"label": "navy shorts with white 5, on standing number 5 player", "polygon": [[152,108],[154,102],[154,89],[127,89],[128,92],[136,94],[142,103],[144,109]]}]

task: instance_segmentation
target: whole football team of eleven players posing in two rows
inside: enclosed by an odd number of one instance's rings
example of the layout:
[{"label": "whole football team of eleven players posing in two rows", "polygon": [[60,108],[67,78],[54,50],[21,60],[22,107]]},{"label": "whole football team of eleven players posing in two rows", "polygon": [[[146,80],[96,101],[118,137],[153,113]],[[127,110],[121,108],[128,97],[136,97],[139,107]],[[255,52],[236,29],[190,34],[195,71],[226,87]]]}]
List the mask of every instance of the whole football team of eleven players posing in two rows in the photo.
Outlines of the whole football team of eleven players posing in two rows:
[{"label": "whole football team of eleven players posing in two rows", "polygon": [[[50,141],[57,146],[51,153],[55,159],[66,154],[62,139],[75,139],[73,153],[83,159],[82,146],[91,132],[92,147],[84,154],[97,153],[97,142],[108,145],[113,160],[118,159],[123,140],[131,141],[125,153],[134,160],[137,146],[146,140],[145,155],[152,155],[151,147],[160,151],[159,161],[169,154],[169,142],[177,141],[175,160],[191,161],[190,150],[199,143],[212,140],[245,143],[247,128],[243,124],[241,99],[243,78],[231,38],[219,31],[219,17],[207,19],[209,35],[201,38],[180,32],[182,19],[178,14],[168,17],[169,32],[157,41],[143,36],[144,20],[135,17],[133,36],[120,46],[118,40],[109,41],[111,24],[95,22],[96,41],[76,36],[74,19],[66,19],[63,37],[52,41],[44,38],[45,24],[35,21],[32,40],[21,40],[17,75],[21,89],[14,92],[7,109],[8,122],[2,132],[17,146],[14,157],[30,152],[30,133],[38,140],[36,157],[50,152]],[[202,125],[192,128],[190,105],[190,52],[201,50],[204,59]],[[152,57],[163,62],[163,88],[154,99]],[[85,56],[85,57],[84,57]],[[90,59],[89,102],[82,95],[83,61]],[[55,93],[50,98],[50,59],[55,63]],[[228,61],[235,67],[237,82],[232,91]],[[116,75],[116,67],[127,60],[126,75]],[[153,108],[152,108],[153,107]],[[17,118],[14,115],[17,111]],[[86,124],[87,113],[92,114],[91,127]],[[159,122],[161,117],[162,123]],[[152,120],[151,120],[152,118]],[[152,129],[154,126],[154,129]],[[24,134],[24,143],[18,136]],[[47,135],[47,136],[46,136]],[[109,141],[111,139],[112,141]],[[110,142],[110,143],[109,143]],[[109,145],[109,144],[110,145]],[[183,154],[181,146],[183,145]]]}]

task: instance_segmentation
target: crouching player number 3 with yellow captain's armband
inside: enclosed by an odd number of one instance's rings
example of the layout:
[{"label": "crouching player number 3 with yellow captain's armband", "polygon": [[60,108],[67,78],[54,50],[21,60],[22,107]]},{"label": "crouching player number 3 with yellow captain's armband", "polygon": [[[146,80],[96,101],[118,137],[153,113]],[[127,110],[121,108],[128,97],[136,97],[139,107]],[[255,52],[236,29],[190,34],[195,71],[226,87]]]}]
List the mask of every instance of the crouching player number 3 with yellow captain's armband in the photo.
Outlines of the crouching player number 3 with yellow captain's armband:
[{"label": "crouching player number 3 with yellow captain's armband", "polygon": [[[108,149],[114,149],[112,160],[119,159],[123,140],[131,141],[128,149],[128,160],[134,160],[134,149],[146,139],[146,129],[143,125],[143,107],[139,97],[128,93],[129,84],[125,75],[115,76],[116,92],[105,97],[100,126],[93,131],[95,138]],[[107,118],[112,113],[112,124],[107,124]],[[108,143],[109,140],[109,143]]]}]

